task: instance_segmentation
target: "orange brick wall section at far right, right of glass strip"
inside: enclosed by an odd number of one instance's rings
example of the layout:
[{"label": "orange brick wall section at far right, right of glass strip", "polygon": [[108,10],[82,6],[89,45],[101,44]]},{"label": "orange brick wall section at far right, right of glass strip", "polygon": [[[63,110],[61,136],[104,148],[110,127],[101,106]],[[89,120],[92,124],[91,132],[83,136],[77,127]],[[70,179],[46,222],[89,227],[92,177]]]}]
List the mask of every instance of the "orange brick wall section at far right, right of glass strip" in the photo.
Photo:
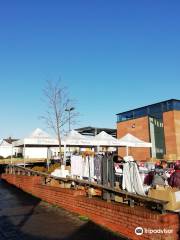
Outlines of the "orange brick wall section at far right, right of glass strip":
[{"label": "orange brick wall section at far right, right of glass strip", "polygon": [[180,111],[163,113],[166,156],[170,160],[180,158]]}]

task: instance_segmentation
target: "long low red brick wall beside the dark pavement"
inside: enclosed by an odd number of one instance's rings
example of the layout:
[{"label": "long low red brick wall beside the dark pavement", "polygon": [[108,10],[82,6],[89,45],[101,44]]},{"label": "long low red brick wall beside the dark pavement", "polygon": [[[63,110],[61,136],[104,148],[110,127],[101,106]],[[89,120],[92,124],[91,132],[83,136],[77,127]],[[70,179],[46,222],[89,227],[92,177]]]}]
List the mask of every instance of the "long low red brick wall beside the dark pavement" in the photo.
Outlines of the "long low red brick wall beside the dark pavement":
[{"label": "long low red brick wall beside the dark pavement", "polygon": [[[41,184],[41,177],[2,174],[2,179],[40,199],[63,207],[71,212],[89,217],[92,221],[105,226],[133,240],[178,240],[180,219],[178,214],[160,214],[144,207],[129,207],[121,203],[107,203],[101,199],[87,198],[82,190],[51,187]],[[136,227],[144,231],[150,229],[171,230],[172,233],[144,233],[136,235]]]}]

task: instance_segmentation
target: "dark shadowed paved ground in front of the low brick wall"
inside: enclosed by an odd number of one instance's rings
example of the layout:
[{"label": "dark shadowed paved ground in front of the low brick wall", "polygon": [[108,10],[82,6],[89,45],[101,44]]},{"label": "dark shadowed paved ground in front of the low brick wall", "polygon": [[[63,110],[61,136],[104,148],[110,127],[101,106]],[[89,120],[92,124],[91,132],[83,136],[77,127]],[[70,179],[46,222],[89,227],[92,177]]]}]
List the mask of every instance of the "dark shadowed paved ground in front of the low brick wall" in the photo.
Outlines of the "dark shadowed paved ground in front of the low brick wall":
[{"label": "dark shadowed paved ground in front of the low brick wall", "polygon": [[0,180],[0,240],[122,240]]}]

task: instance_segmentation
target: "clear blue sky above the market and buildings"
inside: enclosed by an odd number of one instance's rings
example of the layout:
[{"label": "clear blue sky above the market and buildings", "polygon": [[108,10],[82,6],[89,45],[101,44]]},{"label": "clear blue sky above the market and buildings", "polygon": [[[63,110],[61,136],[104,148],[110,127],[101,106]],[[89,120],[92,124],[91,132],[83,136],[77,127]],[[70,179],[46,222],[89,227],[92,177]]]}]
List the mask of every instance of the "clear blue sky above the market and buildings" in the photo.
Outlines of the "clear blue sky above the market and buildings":
[{"label": "clear blue sky above the market and buildings", "polygon": [[180,1],[0,1],[0,137],[46,130],[47,80],[76,99],[77,127],[180,99]]}]

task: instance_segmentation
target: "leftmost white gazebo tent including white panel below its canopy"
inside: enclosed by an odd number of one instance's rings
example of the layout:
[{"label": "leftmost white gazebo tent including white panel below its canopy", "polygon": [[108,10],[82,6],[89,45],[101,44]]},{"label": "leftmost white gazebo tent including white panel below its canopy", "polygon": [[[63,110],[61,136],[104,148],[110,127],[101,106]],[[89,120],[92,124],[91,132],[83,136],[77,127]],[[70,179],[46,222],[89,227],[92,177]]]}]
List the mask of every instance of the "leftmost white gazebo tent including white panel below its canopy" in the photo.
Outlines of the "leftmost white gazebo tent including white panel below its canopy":
[{"label": "leftmost white gazebo tent including white panel below its canopy", "polygon": [[13,142],[14,147],[23,149],[24,158],[47,158],[48,149],[58,147],[58,140],[37,128],[28,137]]}]

